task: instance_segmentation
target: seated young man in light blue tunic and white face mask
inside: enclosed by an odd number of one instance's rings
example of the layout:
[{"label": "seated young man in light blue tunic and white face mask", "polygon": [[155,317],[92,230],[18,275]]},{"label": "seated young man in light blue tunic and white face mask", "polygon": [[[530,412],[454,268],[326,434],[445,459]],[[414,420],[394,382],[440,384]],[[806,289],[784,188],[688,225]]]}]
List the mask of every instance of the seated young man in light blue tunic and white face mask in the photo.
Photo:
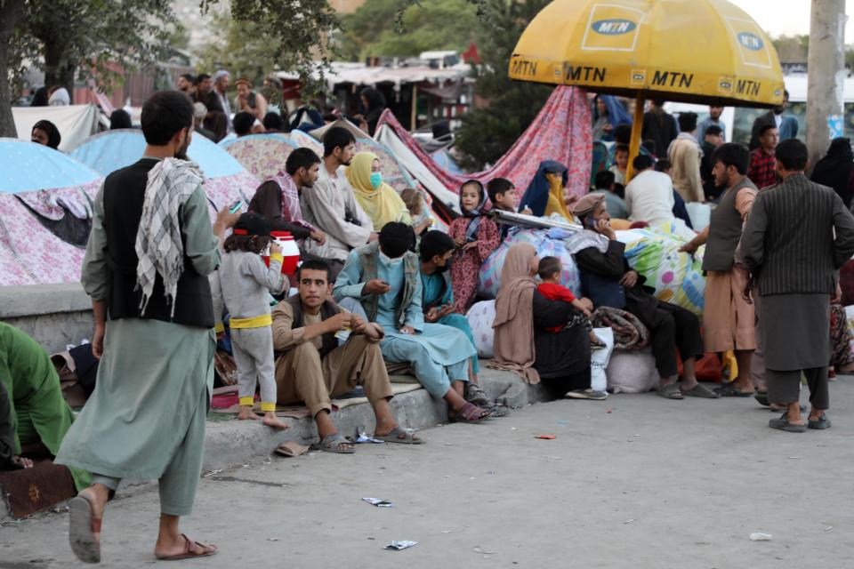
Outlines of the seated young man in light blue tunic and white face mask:
[{"label": "seated young man in light blue tunic and white face mask", "polygon": [[358,301],[367,319],[385,329],[383,357],[410,365],[431,396],[447,401],[457,421],[482,421],[490,413],[463,398],[469,359],[477,350],[456,328],[425,324],[420,264],[410,251],[414,244],[411,227],[387,223],[377,243],[350,252],[335,282],[335,301]]}]

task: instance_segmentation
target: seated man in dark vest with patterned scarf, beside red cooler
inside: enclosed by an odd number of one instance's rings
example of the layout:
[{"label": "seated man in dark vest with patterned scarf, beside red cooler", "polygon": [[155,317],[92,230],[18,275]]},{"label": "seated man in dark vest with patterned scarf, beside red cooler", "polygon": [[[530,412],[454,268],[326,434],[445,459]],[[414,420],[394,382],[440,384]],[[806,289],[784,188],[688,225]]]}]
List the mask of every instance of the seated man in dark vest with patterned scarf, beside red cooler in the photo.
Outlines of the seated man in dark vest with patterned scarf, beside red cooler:
[{"label": "seated man in dark vest with patterned scarf, beside red cooler", "polygon": [[[288,231],[300,244],[302,260],[320,259],[306,251],[305,241],[319,245],[326,243],[326,234],[302,217],[300,194],[303,188],[313,188],[318,180],[320,157],[310,148],[297,148],[285,163],[285,170],[266,180],[255,190],[249,211],[262,216],[270,223],[270,231]],[[340,260],[326,259],[330,266],[330,280],[341,272]]]}]

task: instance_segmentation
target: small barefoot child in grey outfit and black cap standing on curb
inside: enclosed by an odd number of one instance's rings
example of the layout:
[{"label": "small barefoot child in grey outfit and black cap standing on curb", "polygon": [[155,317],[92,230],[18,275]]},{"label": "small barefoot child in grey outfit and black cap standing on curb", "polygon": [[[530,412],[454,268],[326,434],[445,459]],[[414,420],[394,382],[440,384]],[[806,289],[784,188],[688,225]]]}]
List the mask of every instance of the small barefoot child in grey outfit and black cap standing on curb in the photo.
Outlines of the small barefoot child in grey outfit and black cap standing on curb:
[{"label": "small barefoot child in grey outfit and black cap standing on curb", "polygon": [[[261,253],[270,245],[270,267]],[[244,213],[223,244],[225,255],[213,278],[222,303],[231,316],[231,349],[238,365],[238,419],[258,419],[253,411],[255,387],[261,384],[263,422],[274,429],[288,424],[276,416],[276,374],[273,363],[273,331],[270,295],[288,287],[282,275],[282,250],[270,240],[270,224],[257,213]],[[217,305],[214,299],[214,306]],[[220,316],[220,315],[217,315]]]}]

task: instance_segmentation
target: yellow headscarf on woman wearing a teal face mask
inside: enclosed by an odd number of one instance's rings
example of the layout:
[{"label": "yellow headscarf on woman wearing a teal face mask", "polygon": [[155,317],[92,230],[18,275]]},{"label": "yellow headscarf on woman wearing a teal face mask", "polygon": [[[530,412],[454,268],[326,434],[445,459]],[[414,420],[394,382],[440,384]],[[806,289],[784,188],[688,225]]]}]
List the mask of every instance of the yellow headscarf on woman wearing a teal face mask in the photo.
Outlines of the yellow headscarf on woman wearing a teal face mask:
[{"label": "yellow headscarf on woman wearing a teal face mask", "polygon": [[407,204],[403,203],[403,199],[394,188],[385,182],[376,189],[371,186],[371,166],[378,159],[373,152],[359,152],[353,156],[350,165],[344,171],[350,186],[353,187],[356,201],[374,221],[375,231],[379,231],[390,221],[403,221],[412,225]]}]

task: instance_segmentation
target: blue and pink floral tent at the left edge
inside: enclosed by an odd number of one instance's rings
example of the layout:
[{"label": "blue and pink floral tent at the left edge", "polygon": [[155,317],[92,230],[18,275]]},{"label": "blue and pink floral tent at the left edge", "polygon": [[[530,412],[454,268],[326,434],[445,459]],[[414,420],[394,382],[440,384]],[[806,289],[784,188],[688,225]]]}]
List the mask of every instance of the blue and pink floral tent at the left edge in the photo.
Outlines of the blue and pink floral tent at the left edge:
[{"label": "blue and pink floral tent at the left edge", "polygon": [[52,148],[0,139],[0,285],[80,280],[101,180]]}]

